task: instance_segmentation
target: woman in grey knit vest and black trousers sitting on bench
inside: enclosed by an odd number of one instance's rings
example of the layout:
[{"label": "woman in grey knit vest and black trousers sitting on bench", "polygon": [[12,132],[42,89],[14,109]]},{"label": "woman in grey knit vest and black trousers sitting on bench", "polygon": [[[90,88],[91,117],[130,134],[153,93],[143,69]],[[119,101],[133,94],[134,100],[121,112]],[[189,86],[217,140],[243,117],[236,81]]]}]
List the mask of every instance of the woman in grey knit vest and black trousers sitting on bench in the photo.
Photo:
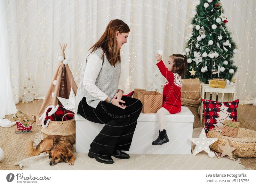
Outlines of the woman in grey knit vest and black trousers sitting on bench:
[{"label": "woman in grey knit vest and black trousers sitting on bench", "polygon": [[91,143],[88,156],[112,164],[111,156],[129,159],[140,100],[123,96],[118,85],[121,74],[120,49],[127,42],[130,28],[122,20],[108,23],[104,34],[86,55],[76,95],[76,112],[85,119],[105,124]]}]

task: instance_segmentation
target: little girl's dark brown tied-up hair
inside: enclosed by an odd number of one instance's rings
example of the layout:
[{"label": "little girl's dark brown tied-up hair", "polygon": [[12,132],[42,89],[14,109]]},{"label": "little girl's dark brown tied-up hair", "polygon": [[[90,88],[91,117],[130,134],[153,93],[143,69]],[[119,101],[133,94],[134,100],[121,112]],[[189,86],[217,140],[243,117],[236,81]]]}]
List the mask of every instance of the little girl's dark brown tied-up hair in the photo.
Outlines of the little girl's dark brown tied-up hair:
[{"label": "little girl's dark brown tied-up hair", "polygon": [[185,75],[188,68],[187,56],[183,56],[182,54],[172,54],[170,57],[172,57],[174,61],[173,73],[177,73],[180,76]]}]

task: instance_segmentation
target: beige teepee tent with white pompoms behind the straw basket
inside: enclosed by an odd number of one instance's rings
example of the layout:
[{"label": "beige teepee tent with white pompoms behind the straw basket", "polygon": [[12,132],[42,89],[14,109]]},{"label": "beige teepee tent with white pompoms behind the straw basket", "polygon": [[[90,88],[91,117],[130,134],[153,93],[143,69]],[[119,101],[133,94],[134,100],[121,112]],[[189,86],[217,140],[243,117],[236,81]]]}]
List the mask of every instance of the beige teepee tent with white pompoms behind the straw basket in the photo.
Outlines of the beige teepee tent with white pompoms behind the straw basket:
[{"label": "beige teepee tent with white pompoms behind the straw basket", "polygon": [[45,95],[44,102],[41,106],[40,111],[37,112],[35,115],[33,115],[37,125],[41,125],[39,122],[39,117],[44,113],[44,110],[47,107],[47,105],[49,104],[62,105],[57,97],[68,99],[71,88],[73,89],[76,95],[76,91],[77,91],[76,82],[74,81],[74,77],[68,66],[68,61],[70,60],[70,58],[68,57],[66,58],[64,53],[67,45],[68,44],[64,44],[61,46],[60,44],[62,54],[58,58],[59,64],[58,64],[57,71],[53,75],[52,82],[47,91],[47,94]]}]

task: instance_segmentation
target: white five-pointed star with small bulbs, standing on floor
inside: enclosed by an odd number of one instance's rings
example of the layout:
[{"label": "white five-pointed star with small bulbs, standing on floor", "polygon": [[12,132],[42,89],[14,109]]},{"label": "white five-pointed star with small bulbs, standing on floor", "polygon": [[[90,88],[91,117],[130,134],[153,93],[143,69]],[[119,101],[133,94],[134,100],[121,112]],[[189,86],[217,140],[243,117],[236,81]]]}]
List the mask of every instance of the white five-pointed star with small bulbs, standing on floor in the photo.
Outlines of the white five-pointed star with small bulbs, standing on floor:
[{"label": "white five-pointed star with small bulbs, standing on floor", "polygon": [[205,151],[207,153],[210,152],[210,145],[218,140],[218,138],[207,138],[204,128],[202,128],[201,134],[198,138],[188,138],[191,142],[196,144],[193,155],[195,156],[197,153],[201,151]]}]

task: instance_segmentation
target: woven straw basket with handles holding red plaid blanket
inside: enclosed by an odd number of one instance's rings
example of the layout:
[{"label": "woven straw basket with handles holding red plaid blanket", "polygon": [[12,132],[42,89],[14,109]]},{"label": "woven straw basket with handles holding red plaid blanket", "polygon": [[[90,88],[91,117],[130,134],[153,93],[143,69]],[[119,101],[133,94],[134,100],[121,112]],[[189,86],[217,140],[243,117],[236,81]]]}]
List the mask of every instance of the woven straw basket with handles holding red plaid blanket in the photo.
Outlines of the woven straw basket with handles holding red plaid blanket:
[{"label": "woven straw basket with handles holding red plaid blanket", "polygon": [[[69,113],[72,114],[72,113]],[[68,114],[64,114],[68,115]],[[74,120],[75,114],[73,114],[72,120],[63,121],[50,121],[47,128],[42,128],[43,139],[50,135],[61,135],[67,137],[71,143],[76,141],[76,122]]]}]

